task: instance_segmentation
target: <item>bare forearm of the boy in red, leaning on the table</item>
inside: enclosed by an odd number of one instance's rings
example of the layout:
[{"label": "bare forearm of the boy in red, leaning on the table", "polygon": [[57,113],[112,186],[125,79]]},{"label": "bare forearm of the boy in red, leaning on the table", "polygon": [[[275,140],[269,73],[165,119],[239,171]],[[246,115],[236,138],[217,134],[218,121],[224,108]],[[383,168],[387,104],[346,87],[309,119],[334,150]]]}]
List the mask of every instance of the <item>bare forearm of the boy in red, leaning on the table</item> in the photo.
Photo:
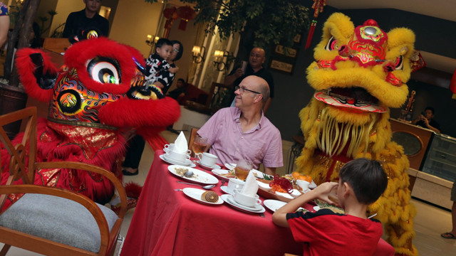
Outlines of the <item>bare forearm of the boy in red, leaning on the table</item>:
[{"label": "bare forearm of the boy in red, leaning on the table", "polygon": [[272,222],[281,227],[288,228],[289,224],[286,220],[286,213],[292,213],[298,210],[298,208],[303,206],[305,203],[314,199],[321,199],[328,203],[336,204],[328,198],[328,195],[331,193],[331,191],[337,189],[337,186],[338,183],[336,182],[325,182],[316,187],[314,190],[304,193],[298,198],[294,198],[293,200],[289,201],[289,203],[286,203],[286,205],[276,210],[276,212],[272,215]]}]

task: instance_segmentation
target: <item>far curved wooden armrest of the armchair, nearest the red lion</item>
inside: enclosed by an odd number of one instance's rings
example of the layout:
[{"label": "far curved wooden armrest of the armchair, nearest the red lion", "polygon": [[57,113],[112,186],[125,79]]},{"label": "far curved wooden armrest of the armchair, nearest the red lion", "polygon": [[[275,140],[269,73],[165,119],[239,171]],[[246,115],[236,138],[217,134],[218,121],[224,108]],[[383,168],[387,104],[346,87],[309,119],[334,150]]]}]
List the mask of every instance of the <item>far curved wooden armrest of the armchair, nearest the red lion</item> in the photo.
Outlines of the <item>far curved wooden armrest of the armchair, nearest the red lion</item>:
[{"label": "far curved wooden armrest of the armchair, nearest the red lion", "polygon": [[118,191],[120,197],[120,211],[119,211],[119,218],[123,218],[125,216],[125,212],[127,211],[127,193],[125,192],[125,188],[123,187],[122,183],[119,179],[110,171],[100,167],[95,166],[93,164],[86,164],[76,161],[48,161],[48,162],[36,162],[34,165],[35,170],[41,169],[78,169],[83,171],[91,171],[97,174],[101,174],[108,178],[114,185],[115,189]]}]

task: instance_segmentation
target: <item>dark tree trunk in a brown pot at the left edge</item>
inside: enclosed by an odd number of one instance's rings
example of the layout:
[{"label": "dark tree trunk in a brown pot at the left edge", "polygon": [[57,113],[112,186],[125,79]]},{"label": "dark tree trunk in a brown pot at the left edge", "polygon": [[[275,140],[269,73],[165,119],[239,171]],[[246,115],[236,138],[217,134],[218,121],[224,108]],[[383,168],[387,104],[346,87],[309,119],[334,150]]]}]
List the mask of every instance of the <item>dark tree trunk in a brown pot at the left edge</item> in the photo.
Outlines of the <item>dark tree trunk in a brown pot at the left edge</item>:
[{"label": "dark tree trunk in a brown pot at the left edge", "polygon": [[[40,0],[24,0],[18,3],[19,12],[14,16],[14,29],[8,35],[8,48],[6,50],[6,60],[4,63],[4,80],[0,82],[0,114],[6,114],[16,110],[21,110],[26,106],[27,95],[24,88],[19,84],[19,76],[16,68],[11,63],[14,61],[14,46],[18,41],[17,48],[28,46],[31,33],[31,24],[38,9]],[[5,127],[9,137],[19,132],[20,122]]]}]

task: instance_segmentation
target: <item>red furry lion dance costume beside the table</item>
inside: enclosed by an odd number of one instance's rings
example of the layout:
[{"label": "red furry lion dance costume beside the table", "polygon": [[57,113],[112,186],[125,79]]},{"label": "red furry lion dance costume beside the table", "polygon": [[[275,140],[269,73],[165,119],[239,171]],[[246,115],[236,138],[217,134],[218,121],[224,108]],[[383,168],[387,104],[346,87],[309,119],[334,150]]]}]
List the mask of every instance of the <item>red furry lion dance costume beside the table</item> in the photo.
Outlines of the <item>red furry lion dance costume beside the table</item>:
[{"label": "red furry lion dance costume beside the table", "polygon": [[[108,38],[73,44],[60,70],[38,49],[24,48],[16,56],[27,94],[50,102],[48,119],[38,119],[38,161],[81,161],[121,178],[125,138],[136,132],[160,145],[158,132],[180,116],[175,100],[157,87],[143,87],[144,59],[138,50]],[[15,138],[20,139],[21,134]],[[7,152],[1,153],[1,163],[9,163]],[[107,203],[114,193],[106,179],[74,169],[39,171],[35,183],[71,189],[98,203]]]}]

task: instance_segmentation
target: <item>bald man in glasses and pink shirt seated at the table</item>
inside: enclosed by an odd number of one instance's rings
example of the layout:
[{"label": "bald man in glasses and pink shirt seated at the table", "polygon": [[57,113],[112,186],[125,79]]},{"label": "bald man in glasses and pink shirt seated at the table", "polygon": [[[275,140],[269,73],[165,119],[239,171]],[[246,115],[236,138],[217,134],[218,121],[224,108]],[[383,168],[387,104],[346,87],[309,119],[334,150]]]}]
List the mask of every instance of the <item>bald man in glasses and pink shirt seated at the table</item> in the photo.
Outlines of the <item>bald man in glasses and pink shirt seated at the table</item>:
[{"label": "bald man in glasses and pink shirt seated at the table", "polygon": [[247,159],[252,161],[254,169],[263,164],[266,174],[275,174],[284,161],[279,129],[262,111],[269,99],[269,85],[263,78],[250,75],[235,89],[235,107],[219,110],[198,134],[207,138],[209,153],[219,157],[217,162]]}]

